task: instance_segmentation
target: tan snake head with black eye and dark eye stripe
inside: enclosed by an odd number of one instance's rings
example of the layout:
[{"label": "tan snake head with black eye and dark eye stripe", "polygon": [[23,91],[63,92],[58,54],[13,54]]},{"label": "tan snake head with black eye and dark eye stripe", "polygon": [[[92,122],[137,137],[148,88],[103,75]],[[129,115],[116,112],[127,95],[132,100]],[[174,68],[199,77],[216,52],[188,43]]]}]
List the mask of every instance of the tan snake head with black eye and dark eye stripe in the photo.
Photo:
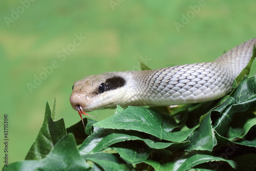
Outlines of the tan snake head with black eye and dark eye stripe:
[{"label": "tan snake head with black eye and dark eye stripe", "polygon": [[70,103],[75,110],[80,105],[84,112],[115,108],[125,87],[125,79],[118,73],[91,75],[74,83]]}]

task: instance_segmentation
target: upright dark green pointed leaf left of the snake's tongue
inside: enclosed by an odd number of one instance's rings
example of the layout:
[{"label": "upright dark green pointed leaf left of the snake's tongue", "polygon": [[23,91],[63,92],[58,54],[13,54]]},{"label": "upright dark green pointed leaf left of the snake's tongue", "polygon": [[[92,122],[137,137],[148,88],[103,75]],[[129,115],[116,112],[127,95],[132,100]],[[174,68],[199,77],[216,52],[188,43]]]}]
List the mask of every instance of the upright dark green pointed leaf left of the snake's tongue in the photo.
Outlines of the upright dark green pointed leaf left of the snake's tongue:
[{"label": "upright dark green pointed leaf left of the snake's tongue", "polygon": [[[54,101],[53,116],[55,116],[55,106],[56,100]],[[53,146],[65,135],[67,135],[67,133],[64,120],[60,119],[54,121],[52,119],[50,106],[47,102],[44,122],[25,160],[39,160],[45,158],[50,153]]]}]

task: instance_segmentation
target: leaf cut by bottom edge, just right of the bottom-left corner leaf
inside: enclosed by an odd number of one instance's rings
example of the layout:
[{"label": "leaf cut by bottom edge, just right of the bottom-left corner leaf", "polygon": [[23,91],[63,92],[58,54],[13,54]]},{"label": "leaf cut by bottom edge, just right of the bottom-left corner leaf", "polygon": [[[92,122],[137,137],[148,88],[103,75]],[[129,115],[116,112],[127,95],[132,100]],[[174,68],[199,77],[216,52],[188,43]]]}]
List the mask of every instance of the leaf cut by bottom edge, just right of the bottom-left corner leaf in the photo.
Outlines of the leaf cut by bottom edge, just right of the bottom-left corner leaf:
[{"label": "leaf cut by bottom edge, just right of the bottom-left corner leaf", "polygon": [[113,154],[95,153],[95,154],[83,156],[83,158],[85,160],[90,160],[98,164],[105,171],[135,170],[130,164],[122,164],[122,161]]}]

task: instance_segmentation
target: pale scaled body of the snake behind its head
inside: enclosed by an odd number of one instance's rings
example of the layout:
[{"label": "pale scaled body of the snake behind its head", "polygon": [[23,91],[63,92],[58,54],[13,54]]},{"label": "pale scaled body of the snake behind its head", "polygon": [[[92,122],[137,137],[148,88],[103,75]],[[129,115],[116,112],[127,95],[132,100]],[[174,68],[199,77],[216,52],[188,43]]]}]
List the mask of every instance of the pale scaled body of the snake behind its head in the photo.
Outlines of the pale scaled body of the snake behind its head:
[{"label": "pale scaled body of the snake behind its head", "polygon": [[223,97],[248,64],[255,44],[256,39],[247,41],[214,62],[129,72],[125,104],[161,106]]}]

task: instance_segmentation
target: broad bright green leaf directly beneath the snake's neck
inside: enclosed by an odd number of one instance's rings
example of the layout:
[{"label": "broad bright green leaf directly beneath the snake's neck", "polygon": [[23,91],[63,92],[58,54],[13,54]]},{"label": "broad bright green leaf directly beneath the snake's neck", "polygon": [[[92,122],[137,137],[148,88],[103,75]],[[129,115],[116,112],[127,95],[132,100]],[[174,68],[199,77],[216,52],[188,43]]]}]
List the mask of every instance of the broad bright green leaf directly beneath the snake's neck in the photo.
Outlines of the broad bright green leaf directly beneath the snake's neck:
[{"label": "broad bright green leaf directly beneath the snake's neck", "polygon": [[164,120],[161,115],[151,109],[137,106],[129,106],[125,110],[95,123],[94,126],[105,129],[140,131],[173,142],[184,141],[196,129],[194,127],[186,131],[166,132],[165,129],[169,129],[168,120]]}]

